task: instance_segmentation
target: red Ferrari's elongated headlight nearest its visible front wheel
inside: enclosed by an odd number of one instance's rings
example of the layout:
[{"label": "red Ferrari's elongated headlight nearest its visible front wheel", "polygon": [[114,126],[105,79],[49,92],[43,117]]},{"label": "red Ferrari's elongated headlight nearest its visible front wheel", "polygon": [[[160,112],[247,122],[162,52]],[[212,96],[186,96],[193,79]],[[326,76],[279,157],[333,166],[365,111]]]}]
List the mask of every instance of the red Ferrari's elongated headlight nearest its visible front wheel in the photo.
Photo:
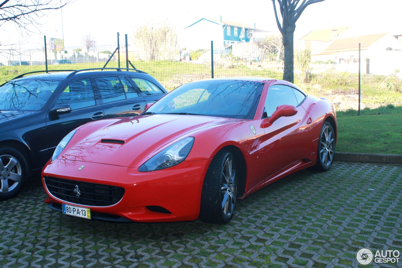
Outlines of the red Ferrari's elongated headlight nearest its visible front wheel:
[{"label": "red Ferrari's elongated headlight nearest its visible front wheel", "polygon": [[163,149],[150,160],[146,161],[138,171],[155,171],[166,169],[183,162],[189,155],[191,147],[194,144],[194,137],[187,137],[179,140],[173,145]]}]

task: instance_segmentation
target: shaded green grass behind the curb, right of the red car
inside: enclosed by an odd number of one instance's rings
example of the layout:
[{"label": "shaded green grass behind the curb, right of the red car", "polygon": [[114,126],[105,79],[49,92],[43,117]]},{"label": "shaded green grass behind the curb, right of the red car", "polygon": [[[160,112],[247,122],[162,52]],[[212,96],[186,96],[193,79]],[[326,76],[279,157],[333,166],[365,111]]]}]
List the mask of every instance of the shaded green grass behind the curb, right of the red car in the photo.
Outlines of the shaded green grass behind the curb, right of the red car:
[{"label": "shaded green grass behind the curb, right of the red car", "polygon": [[337,152],[402,155],[402,114],[338,118]]}]

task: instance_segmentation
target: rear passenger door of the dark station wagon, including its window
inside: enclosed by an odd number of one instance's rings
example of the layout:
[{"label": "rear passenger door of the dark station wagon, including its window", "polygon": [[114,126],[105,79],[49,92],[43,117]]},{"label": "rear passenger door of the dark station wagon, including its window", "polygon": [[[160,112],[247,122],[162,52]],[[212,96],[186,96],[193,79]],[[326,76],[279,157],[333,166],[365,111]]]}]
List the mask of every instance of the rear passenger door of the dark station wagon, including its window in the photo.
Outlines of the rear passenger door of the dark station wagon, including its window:
[{"label": "rear passenger door of the dark station wagon, including its window", "polygon": [[105,118],[139,115],[146,101],[125,76],[95,77]]}]

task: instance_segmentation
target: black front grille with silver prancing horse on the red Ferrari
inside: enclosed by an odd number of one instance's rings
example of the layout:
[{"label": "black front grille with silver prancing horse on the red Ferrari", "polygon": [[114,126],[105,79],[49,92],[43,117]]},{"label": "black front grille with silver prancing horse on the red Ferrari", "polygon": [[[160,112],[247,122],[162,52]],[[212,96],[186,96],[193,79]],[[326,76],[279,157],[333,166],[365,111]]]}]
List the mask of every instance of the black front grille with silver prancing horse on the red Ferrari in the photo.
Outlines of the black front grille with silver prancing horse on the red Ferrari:
[{"label": "black front grille with silver prancing horse on the red Ferrari", "polygon": [[[44,177],[47,190],[56,198],[85,206],[112,206],[124,195],[124,188],[105,184],[74,181],[55,177]],[[78,187],[77,187],[78,186]],[[74,190],[78,188],[77,197]]]}]

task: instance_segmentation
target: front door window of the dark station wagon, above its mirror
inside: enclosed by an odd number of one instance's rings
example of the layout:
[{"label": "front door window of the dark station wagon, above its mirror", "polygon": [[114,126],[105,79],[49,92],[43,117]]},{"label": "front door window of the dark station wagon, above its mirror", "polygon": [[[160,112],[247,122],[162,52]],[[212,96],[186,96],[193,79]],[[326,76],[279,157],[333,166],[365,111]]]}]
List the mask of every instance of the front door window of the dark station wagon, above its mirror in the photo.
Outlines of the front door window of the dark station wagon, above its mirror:
[{"label": "front door window of the dark station wagon, above its mirror", "polygon": [[68,84],[57,99],[57,104],[69,104],[72,111],[96,105],[94,90],[89,78]]}]

